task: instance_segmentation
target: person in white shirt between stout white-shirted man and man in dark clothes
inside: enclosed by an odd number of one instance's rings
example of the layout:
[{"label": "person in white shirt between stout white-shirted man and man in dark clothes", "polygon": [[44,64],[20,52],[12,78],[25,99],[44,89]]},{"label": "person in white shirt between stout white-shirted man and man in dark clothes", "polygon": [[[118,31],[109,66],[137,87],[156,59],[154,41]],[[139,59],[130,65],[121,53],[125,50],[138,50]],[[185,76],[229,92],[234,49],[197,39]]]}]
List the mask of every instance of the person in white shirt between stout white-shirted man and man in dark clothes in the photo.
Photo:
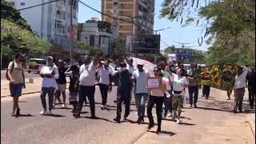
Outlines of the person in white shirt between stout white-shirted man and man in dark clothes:
[{"label": "person in white shirt between stout white-shirted man and man in dark clothes", "polygon": [[103,66],[102,63],[100,63],[99,68],[99,90],[102,94],[102,110],[106,109],[106,102],[107,102],[107,93],[109,90],[112,89],[112,86],[110,84],[110,78],[111,78],[111,70],[109,68],[109,62],[105,61]]}]

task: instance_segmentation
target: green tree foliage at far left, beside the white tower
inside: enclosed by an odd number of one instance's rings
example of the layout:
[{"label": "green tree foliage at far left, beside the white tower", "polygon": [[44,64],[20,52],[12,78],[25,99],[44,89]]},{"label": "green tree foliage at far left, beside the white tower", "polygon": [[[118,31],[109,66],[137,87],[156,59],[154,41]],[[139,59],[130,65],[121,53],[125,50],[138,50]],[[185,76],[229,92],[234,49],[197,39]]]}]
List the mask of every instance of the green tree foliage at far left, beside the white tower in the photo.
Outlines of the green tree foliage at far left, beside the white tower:
[{"label": "green tree foliage at far left, beside the white tower", "polygon": [[19,50],[46,54],[51,44],[44,38],[38,38],[30,25],[18,10],[6,0],[1,1],[1,52],[12,54]]}]

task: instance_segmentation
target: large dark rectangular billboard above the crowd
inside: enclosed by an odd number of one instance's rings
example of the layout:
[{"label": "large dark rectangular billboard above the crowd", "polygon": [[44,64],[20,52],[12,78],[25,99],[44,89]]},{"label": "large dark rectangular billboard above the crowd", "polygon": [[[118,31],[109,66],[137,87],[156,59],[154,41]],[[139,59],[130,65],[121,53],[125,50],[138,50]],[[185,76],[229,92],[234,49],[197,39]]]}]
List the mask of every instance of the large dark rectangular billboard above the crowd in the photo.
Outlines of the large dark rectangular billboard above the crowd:
[{"label": "large dark rectangular billboard above the crowd", "polygon": [[126,34],[126,53],[158,54],[160,35]]}]

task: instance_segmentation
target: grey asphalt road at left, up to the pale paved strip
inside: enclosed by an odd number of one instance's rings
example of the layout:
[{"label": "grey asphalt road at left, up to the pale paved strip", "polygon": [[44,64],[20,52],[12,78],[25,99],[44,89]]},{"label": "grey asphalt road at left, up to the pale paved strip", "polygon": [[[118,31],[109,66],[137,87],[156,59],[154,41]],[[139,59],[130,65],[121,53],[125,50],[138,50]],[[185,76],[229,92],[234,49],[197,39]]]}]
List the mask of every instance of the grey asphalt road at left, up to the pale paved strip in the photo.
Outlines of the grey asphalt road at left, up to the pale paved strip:
[{"label": "grey asphalt road at left, up to the pale paved strip", "polygon": [[[90,119],[90,107],[84,106],[82,118],[74,118],[71,109],[56,109],[53,116],[42,116],[39,94],[21,98],[20,118],[10,116],[11,100],[1,102],[1,142],[2,143],[132,143],[139,135],[146,133],[147,125],[131,124],[137,121],[134,114],[134,102],[131,103],[131,122],[115,123],[116,104],[113,102],[116,89],[108,98],[108,110],[100,109],[101,95],[97,88],[95,93],[96,116]],[[10,98],[9,98],[10,99]],[[47,99],[47,98],[46,98]],[[60,107],[61,105],[59,105]],[[71,107],[68,105],[68,107]],[[124,111],[124,110],[122,110]],[[122,114],[123,115],[123,114]],[[129,137],[127,137],[129,134]]]}]

